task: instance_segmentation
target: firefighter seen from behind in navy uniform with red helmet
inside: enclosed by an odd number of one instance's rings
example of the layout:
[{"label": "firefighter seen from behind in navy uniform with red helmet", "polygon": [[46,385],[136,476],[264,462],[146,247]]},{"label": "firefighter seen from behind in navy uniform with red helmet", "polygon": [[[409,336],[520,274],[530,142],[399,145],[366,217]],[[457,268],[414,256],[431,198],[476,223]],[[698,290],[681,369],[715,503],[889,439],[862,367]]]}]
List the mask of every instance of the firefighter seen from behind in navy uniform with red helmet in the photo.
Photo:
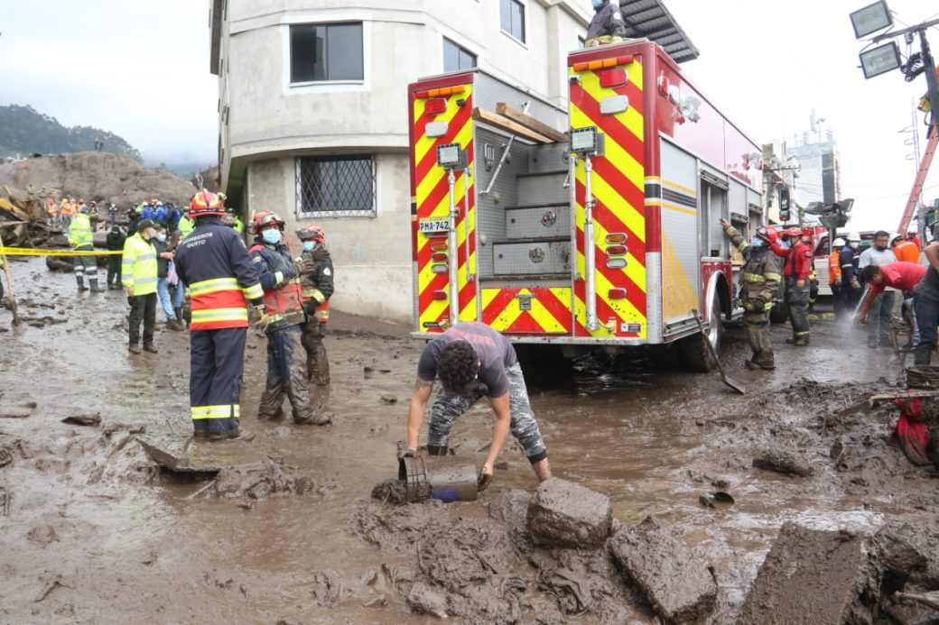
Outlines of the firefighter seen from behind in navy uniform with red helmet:
[{"label": "firefighter seen from behind in navy uniform with red helmet", "polygon": [[268,320],[257,268],[235,231],[222,225],[222,200],[199,191],[192,197],[192,235],[177,247],[174,262],[189,285],[189,403],[196,436],[239,436],[241,375],[248,328],[248,302],[258,323]]}]

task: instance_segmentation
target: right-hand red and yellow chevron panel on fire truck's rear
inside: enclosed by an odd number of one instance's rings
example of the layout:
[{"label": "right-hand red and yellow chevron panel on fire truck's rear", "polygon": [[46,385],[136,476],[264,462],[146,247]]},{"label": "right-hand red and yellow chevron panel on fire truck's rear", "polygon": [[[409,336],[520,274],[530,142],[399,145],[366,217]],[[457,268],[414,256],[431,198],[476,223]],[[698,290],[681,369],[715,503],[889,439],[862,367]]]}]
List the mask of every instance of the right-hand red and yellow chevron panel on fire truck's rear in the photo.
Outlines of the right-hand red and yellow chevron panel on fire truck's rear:
[{"label": "right-hand red and yellow chevron panel on fire truck's rear", "polygon": [[[623,65],[623,61],[628,63]],[[571,127],[596,127],[606,135],[604,156],[592,159],[593,241],[584,240],[587,176],[583,160],[577,160],[575,172],[577,271],[580,276],[586,276],[586,246],[593,245],[597,321],[603,327],[593,331],[585,329],[586,282],[581,278],[574,284],[575,334],[596,338],[644,338],[648,328],[642,64],[639,57],[618,58],[615,63],[625,69],[626,82],[612,88],[600,84],[600,74],[606,68],[593,70],[579,65],[577,69],[569,68],[570,75],[578,78],[571,83]],[[628,102],[625,110],[602,113],[601,102],[623,96]],[[626,235],[624,267],[607,267],[605,241],[611,234]],[[612,297],[614,294],[620,295]]]}]

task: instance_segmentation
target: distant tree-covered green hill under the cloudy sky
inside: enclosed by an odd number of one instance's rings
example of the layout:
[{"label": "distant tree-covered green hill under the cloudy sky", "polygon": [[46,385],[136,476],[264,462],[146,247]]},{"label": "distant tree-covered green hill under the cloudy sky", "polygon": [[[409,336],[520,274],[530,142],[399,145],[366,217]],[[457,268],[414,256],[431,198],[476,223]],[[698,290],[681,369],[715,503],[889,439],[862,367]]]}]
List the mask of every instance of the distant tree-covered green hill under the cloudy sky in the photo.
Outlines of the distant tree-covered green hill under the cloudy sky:
[{"label": "distant tree-covered green hill under the cloudy sky", "polygon": [[103,142],[104,152],[126,154],[143,162],[140,152],[113,132],[90,126],[68,128],[31,106],[0,106],[0,157],[91,151],[96,140]]}]

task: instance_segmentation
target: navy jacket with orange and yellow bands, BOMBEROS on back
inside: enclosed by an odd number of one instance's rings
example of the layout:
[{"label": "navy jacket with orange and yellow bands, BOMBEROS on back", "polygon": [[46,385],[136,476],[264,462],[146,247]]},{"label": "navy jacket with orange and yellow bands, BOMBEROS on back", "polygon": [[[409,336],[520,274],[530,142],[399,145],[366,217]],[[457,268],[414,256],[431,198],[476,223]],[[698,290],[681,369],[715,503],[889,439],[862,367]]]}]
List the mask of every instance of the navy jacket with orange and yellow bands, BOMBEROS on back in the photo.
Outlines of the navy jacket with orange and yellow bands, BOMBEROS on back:
[{"label": "navy jacket with orange and yellow bands, BOMBEROS on back", "polygon": [[248,327],[248,301],[260,305],[264,293],[238,233],[217,217],[200,217],[174,262],[189,288],[191,329]]}]

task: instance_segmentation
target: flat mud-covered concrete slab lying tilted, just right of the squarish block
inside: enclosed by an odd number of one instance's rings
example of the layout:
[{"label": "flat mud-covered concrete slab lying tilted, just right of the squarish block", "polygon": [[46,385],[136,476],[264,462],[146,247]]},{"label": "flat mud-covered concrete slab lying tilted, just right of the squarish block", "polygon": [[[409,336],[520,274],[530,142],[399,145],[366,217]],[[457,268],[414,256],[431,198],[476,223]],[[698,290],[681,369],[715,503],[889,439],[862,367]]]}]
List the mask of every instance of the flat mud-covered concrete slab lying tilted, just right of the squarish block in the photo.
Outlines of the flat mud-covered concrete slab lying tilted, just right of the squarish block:
[{"label": "flat mud-covered concrete slab lying tilted, just right of the squarish block", "polygon": [[659,525],[653,517],[646,517],[638,526],[623,527],[607,545],[656,614],[665,620],[695,621],[714,609],[714,573],[672,535],[669,527]]}]

